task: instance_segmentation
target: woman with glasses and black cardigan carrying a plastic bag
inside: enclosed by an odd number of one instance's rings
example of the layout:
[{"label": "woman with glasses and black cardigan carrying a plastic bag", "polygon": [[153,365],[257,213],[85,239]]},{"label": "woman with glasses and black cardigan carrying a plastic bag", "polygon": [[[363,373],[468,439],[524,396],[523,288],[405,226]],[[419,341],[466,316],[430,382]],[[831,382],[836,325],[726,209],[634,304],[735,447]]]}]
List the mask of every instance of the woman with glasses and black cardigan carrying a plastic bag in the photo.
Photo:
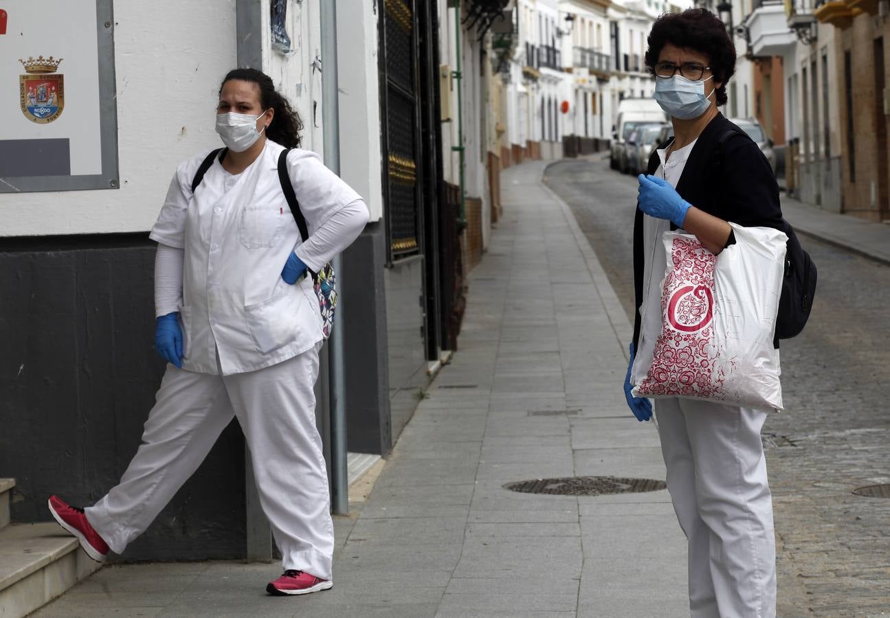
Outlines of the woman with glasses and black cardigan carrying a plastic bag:
[{"label": "woman with glasses and black cardigan carrying a plastic bag", "polygon": [[[735,59],[724,23],[711,12],[667,14],[652,26],[646,66],[675,137],[652,153],[649,173],[639,176],[635,327],[624,385],[639,421],[651,419],[651,403],[633,397],[631,384],[648,370],[642,359],[652,357],[661,329],[660,311],[641,308],[660,303],[663,234],[684,229],[716,254],[735,242],[729,221],[782,226],[772,168],[717,111],[726,103]],[[765,410],[666,397],[656,415],[667,489],[688,540],[692,616],[775,616],[773,500],[760,438]]]}]

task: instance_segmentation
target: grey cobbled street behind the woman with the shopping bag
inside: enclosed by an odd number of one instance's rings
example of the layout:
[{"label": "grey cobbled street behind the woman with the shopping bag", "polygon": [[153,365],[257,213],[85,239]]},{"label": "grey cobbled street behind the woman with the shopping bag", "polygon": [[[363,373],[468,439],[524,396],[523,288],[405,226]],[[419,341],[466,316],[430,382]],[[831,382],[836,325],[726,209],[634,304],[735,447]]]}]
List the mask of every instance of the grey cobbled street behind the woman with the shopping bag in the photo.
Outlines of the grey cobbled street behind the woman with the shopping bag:
[{"label": "grey cobbled street behind the woman with the shopping bag", "polygon": [[[546,178],[570,205],[632,320],[635,177],[591,158],[552,165]],[[852,493],[890,482],[890,268],[802,241],[819,269],[816,302],[805,332],[781,344],[787,412],[771,416],[764,434],[778,614],[890,615],[890,501]]]}]

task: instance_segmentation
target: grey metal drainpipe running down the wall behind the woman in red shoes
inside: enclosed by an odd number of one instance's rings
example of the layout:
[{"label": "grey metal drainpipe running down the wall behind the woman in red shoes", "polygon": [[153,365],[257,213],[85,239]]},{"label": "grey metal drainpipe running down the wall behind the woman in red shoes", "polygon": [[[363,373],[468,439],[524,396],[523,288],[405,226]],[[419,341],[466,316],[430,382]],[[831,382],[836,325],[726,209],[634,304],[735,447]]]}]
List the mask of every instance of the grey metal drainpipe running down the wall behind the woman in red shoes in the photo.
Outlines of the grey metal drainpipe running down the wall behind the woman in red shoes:
[{"label": "grey metal drainpipe running down the wall behind the woman in red shoes", "polygon": [[[324,127],[325,165],[340,174],[340,106],[336,52],[336,0],[320,0],[321,21],[321,122]],[[343,285],[343,260],[331,262]],[[328,340],[328,381],[331,414],[331,508],[336,515],[349,514],[349,475],[346,470],[346,401],[343,341],[343,307],[336,310],[334,330]]]}]

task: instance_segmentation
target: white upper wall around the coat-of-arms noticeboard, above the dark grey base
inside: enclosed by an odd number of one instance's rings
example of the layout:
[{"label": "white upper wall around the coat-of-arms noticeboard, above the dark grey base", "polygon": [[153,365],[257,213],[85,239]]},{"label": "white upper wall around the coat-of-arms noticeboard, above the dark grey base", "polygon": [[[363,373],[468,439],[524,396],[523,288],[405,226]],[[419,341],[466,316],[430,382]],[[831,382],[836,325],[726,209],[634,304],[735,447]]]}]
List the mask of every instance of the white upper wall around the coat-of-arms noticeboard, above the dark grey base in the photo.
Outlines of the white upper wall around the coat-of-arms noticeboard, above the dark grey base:
[{"label": "white upper wall around the coat-of-arms noticeboard, above the dark grey base", "polygon": [[[303,116],[303,147],[321,148],[319,0],[289,4],[294,53],[271,58],[263,3],[263,69]],[[33,10],[39,11],[39,4]],[[183,159],[222,146],[214,110],[223,76],[237,66],[234,0],[115,3],[117,157],[120,189],[0,195],[0,236],[148,231]],[[317,102],[312,116],[312,103]]]}]

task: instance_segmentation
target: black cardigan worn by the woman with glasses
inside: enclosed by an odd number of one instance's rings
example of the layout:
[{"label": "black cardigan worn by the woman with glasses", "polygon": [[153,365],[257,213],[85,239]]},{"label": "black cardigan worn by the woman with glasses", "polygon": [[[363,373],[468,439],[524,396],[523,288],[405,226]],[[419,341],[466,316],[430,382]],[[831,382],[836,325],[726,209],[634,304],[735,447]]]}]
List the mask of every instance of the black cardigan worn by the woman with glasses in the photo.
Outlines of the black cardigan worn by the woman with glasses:
[{"label": "black cardigan worn by the woman with glasses", "polygon": [[[729,130],[735,132],[717,151],[717,141]],[[659,146],[665,148],[670,140]],[[652,151],[648,173],[658,171],[659,154]],[[722,114],[708,123],[686,160],[677,193],[693,206],[740,226],[784,230],[779,184],[773,168],[754,140]],[[672,223],[671,229],[676,229]],[[634,346],[640,341],[640,307],[643,304],[643,212],[634,219]]]}]

